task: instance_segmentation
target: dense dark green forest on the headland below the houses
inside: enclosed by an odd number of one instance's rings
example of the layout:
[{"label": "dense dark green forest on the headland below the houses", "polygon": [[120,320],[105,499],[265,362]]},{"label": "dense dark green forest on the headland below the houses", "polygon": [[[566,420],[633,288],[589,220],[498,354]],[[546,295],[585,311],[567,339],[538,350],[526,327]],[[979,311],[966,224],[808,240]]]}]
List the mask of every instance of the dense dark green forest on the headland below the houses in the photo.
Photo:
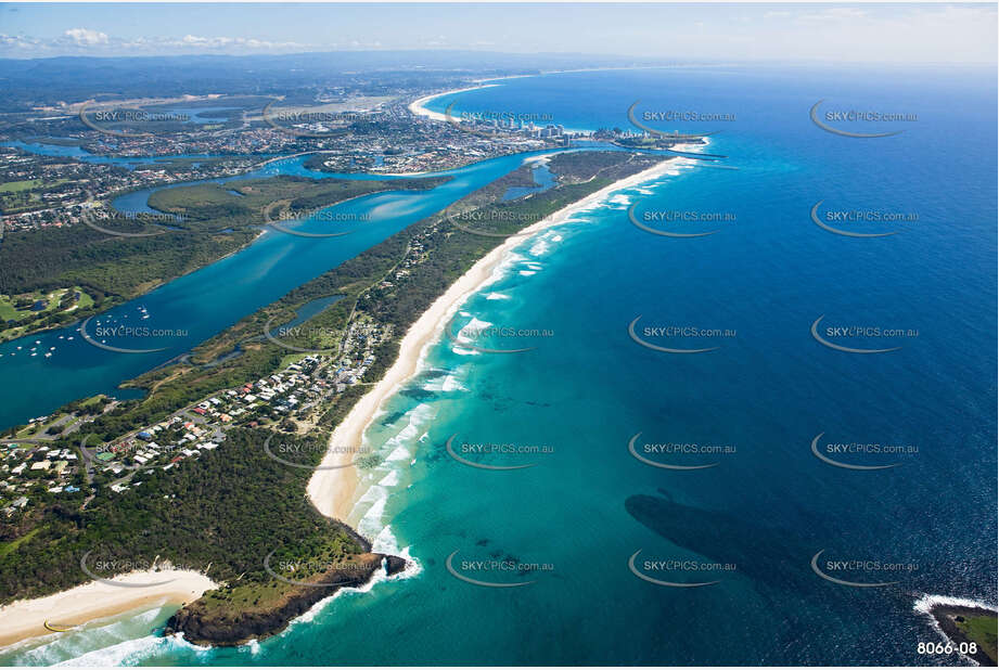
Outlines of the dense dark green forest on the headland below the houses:
[{"label": "dense dark green forest on the headland below the houses", "polygon": [[[313,579],[325,571],[319,566],[334,562],[344,570],[373,570],[372,562],[382,557],[368,553],[367,541],[309,504],[309,471],[268,458],[262,448],[267,435],[233,429],[217,450],[196,462],[178,463],[169,472],[143,471],[137,490],[115,493],[101,487],[82,510],[63,501],[24,534],[0,537],[2,603],[89,581],[84,566],[111,579],[158,565],[198,570],[223,584],[206,604],[209,614],[218,608],[231,616],[241,607],[302,597],[299,585],[268,572],[268,556],[277,574],[297,581]],[[303,442],[324,439],[317,434]],[[355,564],[363,567],[353,568]],[[296,571],[296,566],[310,569]],[[309,593],[321,591],[311,588]]]}]

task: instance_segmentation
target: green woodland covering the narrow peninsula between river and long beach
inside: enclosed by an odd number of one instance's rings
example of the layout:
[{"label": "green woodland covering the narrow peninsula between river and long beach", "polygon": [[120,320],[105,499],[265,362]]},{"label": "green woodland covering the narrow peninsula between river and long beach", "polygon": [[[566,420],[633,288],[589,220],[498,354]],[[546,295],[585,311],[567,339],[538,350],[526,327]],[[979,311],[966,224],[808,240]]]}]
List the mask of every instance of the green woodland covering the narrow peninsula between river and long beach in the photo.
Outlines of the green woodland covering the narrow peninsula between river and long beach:
[{"label": "green woodland covering the narrow peninsula between river and long beach", "polygon": [[[563,154],[551,160],[559,185],[547,192],[500,202],[509,185],[523,183],[524,175],[515,172],[468,196],[458,203],[458,209],[515,214],[503,219],[509,228],[500,231],[515,232],[524,224],[517,221],[540,220],[661,160],[624,152],[571,155],[571,159],[562,160]],[[207,204],[209,197],[220,196],[203,192],[201,197]],[[300,197],[308,197],[308,193]],[[421,261],[401,281],[379,287],[418,236],[426,243]],[[271,317],[290,317],[319,297],[337,295],[343,299],[309,323],[342,328],[357,305],[359,313],[392,325],[393,337],[380,346],[370,376],[366,376],[366,382],[374,382],[394,361],[409,325],[501,242],[502,237],[456,228],[441,214],[413,223],[204,343],[194,351],[193,360],[214,360],[235,347],[240,356],[212,368],[185,362],[150,372],[132,382],[151,389],[146,398],[123,402],[85,430],[102,440],[112,439],[220,389],[271,374],[286,351],[260,337],[264,323]],[[351,386],[336,396],[319,428],[306,439],[324,443],[329,431],[363,392],[362,387]],[[92,557],[105,561],[152,562],[158,556],[205,570],[228,585],[206,594],[200,607],[214,603],[219,609],[222,603],[228,608],[257,608],[261,603],[286,600],[282,594],[287,584],[264,570],[264,558],[271,552],[277,552],[276,559],[332,556],[349,561],[367,551],[364,541],[350,529],[323,518],[311,506],[305,494],[308,469],[287,467],[265,454],[262,444],[268,435],[266,429],[233,428],[217,450],[197,460],[185,460],[169,472],[144,471],[136,477],[142,481],[137,489],[117,494],[100,487],[82,511],[72,501],[63,502],[49,505],[43,514],[17,528],[0,524],[0,539],[24,540],[15,551],[0,555],[0,603],[87,581],[79,562],[92,551]],[[317,462],[321,452],[321,448],[310,451]]]}]

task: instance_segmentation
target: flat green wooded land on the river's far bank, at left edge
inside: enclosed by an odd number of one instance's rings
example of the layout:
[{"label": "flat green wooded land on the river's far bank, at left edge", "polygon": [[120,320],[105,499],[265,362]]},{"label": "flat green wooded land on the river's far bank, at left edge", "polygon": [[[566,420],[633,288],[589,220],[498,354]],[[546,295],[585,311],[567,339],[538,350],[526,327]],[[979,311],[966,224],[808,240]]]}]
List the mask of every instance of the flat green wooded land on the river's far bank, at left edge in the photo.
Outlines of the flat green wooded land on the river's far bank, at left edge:
[{"label": "flat green wooded land on the river's far bank, at left edge", "polygon": [[[11,231],[0,244],[0,333],[9,339],[66,325],[215,262],[251,243],[267,220],[265,210],[276,203],[295,212],[386,190],[432,189],[443,181],[280,176],[240,181],[233,188],[178,186],[150,197],[152,208],[174,218],[90,217],[102,229],[148,236],[111,235],[89,226]],[[80,299],[55,309],[69,287]],[[53,296],[46,309],[18,308],[18,300],[43,293]]]}]

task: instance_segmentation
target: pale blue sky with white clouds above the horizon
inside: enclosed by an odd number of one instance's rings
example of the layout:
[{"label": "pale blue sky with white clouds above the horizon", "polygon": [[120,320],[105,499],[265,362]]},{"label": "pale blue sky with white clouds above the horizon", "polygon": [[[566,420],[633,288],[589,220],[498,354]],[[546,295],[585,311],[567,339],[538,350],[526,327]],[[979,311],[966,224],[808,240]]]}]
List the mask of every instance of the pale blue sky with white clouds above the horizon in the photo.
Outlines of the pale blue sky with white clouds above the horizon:
[{"label": "pale blue sky with white clouds above the horizon", "polygon": [[988,4],[0,4],[0,57],[479,50],[989,63]]}]

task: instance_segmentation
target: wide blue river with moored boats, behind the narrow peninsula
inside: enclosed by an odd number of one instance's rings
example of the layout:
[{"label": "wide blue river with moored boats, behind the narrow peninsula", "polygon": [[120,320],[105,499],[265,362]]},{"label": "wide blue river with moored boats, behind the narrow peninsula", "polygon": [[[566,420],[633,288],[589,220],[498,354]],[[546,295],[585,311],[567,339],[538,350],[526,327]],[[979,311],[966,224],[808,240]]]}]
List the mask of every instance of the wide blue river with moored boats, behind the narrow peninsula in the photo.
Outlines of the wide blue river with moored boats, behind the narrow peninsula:
[{"label": "wide blue river with moored boats, behind the narrow peninsula", "polygon": [[[21,146],[27,150],[39,146],[53,149],[34,144]],[[71,152],[73,155],[81,151],[64,146],[54,150],[76,150]],[[537,152],[542,153],[551,152]],[[0,345],[0,426],[23,424],[65,402],[95,394],[137,397],[138,391],[123,391],[117,386],[190,350],[296,286],[511,172],[531,155],[536,154],[502,156],[458,169],[425,173],[422,176],[451,179],[427,191],[387,191],[326,208],[325,211],[358,215],[354,219],[363,223],[354,227],[349,235],[303,237],[266,230],[239,253],[98,314],[91,322],[94,328],[124,325],[162,332],[161,336],[116,337],[113,343],[120,348],[162,348],[159,351],[121,353],[103,350],[80,336],[79,323]],[[92,155],[87,155],[87,158],[92,162],[101,158],[104,162],[120,160]],[[157,189],[277,175],[317,179],[395,179],[384,175],[320,172],[306,168],[306,156],[296,156],[268,163],[239,177],[182,182]],[[121,211],[149,211],[149,196],[157,189],[128,193],[115,198],[114,205]],[[309,222],[305,220],[296,226],[308,229]]]}]

